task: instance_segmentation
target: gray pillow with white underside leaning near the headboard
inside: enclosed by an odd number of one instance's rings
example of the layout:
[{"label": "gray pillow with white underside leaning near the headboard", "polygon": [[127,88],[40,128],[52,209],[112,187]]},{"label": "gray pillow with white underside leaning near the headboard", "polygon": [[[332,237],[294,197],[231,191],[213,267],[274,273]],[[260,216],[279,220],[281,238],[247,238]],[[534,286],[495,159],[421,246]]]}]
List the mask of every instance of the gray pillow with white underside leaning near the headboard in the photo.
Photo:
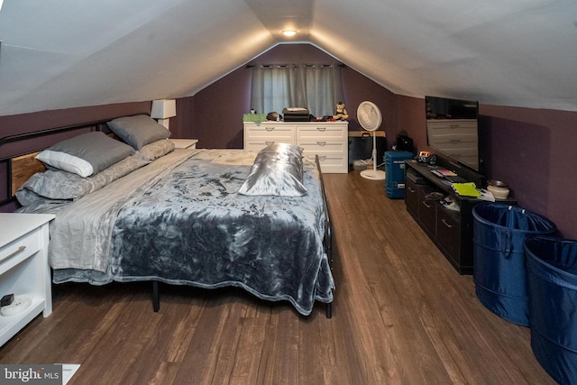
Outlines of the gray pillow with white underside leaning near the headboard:
[{"label": "gray pillow with white underside leaning near the headboard", "polygon": [[105,170],[133,153],[129,145],[105,133],[82,133],[41,151],[36,159],[56,169],[88,177]]}]

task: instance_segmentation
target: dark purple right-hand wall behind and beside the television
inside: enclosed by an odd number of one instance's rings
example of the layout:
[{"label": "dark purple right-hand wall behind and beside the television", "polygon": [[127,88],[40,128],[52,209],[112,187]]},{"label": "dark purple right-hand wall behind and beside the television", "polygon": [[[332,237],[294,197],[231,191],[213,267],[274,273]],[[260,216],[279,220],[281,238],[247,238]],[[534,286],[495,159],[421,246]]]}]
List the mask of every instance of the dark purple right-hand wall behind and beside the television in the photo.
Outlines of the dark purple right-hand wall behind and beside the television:
[{"label": "dark purple right-hand wall behind and beside the television", "polygon": [[[418,151],[431,150],[425,100],[395,96],[395,105],[394,134],[404,130]],[[545,215],[564,237],[577,240],[577,172],[572,169],[577,113],[480,105],[480,115],[482,173],[507,181],[519,206]]]}]

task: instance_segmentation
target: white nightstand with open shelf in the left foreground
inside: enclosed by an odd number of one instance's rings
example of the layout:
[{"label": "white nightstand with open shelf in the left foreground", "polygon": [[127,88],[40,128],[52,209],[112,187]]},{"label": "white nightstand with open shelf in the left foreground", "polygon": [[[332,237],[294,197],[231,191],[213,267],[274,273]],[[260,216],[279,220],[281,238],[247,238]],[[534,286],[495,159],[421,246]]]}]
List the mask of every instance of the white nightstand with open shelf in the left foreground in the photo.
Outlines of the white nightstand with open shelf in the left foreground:
[{"label": "white nightstand with open shelf in the left foreground", "polygon": [[0,214],[0,298],[28,295],[32,304],[14,316],[0,315],[0,346],[41,312],[52,312],[48,224],[54,215]]}]

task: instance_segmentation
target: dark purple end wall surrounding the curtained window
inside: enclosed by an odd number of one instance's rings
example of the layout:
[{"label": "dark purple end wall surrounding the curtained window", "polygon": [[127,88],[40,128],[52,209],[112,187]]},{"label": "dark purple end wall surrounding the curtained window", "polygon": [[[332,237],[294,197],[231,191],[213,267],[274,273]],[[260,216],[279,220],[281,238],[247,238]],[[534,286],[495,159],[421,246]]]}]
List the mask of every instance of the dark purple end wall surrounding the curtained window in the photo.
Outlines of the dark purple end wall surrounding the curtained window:
[{"label": "dark purple end wall surrounding the curtained window", "polygon": [[[340,64],[338,60],[310,44],[281,44],[248,64],[287,63]],[[394,95],[389,90],[348,67],[342,70],[342,81],[343,102],[350,115],[349,130],[362,130],[356,121],[356,108],[363,100],[371,100],[380,107],[383,115],[381,129],[387,131],[392,127]],[[198,148],[241,149],[243,114],[250,110],[251,70],[243,66],[215,81],[197,95],[179,99],[178,122],[170,120],[170,131],[173,132],[173,137],[198,139]],[[270,111],[264,113],[268,112]]]}]

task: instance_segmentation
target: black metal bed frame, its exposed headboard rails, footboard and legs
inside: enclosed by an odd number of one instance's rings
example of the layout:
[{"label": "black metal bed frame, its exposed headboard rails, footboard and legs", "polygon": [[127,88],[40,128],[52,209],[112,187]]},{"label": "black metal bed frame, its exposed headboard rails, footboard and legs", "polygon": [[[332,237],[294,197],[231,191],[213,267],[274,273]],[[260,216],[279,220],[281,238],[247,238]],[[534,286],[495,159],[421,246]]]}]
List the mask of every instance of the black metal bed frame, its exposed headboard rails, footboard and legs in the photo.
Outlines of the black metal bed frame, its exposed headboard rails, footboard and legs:
[{"label": "black metal bed frame, its exposed headboard rails, footboard and legs", "polygon": [[[18,133],[14,135],[8,135],[5,137],[0,138],[0,148],[5,144],[9,144],[12,142],[20,142],[31,140],[35,138],[41,138],[43,136],[53,135],[57,133],[69,133],[81,129],[90,129],[90,131],[105,131],[103,130],[106,128],[106,122],[109,122],[111,119],[106,120],[99,120],[95,122],[88,122],[84,124],[73,124],[67,125],[62,127],[55,127],[49,128],[45,130],[35,131],[32,133]],[[6,172],[6,197],[5,199],[0,200],[0,205],[5,205],[9,202],[14,201],[14,191],[12,191],[12,177],[13,177],[13,170],[12,170],[12,160],[16,157],[26,155],[35,151],[41,151],[45,146],[34,146],[32,149],[24,152],[10,154],[8,156],[0,158],[0,165],[5,164]],[[318,156],[315,157],[316,159],[316,168],[318,170],[320,180],[321,180],[321,189],[322,189],[322,196],[323,196],[323,206],[325,207],[325,237],[323,239],[323,246],[325,248],[326,256],[329,261],[329,265],[331,270],[333,270],[333,222],[331,219],[331,212],[328,205],[328,199],[326,198],[326,191],[325,191],[325,182],[323,180],[323,174],[321,173],[321,167],[318,160]],[[159,280],[152,280],[152,309],[154,312],[158,312],[160,310],[160,291],[159,291]],[[333,303],[329,302],[326,304],[325,314],[327,318],[333,317]]]}]

